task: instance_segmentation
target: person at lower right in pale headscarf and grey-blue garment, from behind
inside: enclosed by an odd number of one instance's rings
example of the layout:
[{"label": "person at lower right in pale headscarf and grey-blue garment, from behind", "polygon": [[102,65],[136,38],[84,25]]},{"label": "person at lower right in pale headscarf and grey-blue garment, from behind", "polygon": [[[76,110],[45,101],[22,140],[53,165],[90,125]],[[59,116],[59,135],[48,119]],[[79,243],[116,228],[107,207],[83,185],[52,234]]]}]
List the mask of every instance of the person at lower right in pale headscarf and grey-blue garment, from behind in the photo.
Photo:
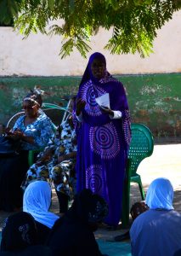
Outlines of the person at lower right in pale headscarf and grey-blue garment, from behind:
[{"label": "person at lower right in pale headscarf and grey-blue garment, from behind", "polygon": [[173,185],[156,178],[147,191],[150,209],[139,215],[130,230],[133,256],[172,256],[181,247],[181,215],[173,208]]}]

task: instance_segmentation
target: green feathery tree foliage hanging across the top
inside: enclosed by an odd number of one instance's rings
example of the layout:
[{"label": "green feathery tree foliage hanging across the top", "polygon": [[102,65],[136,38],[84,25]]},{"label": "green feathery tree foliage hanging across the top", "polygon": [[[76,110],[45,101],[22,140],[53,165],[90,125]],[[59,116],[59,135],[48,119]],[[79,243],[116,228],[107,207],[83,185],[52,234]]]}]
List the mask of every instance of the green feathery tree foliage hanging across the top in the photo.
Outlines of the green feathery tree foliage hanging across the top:
[{"label": "green feathery tree foliage hanging across the top", "polygon": [[105,43],[110,53],[145,57],[152,52],[157,30],[178,9],[181,0],[0,0],[0,22],[13,18],[25,38],[38,31],[61,36],[62,58],[74,48],[86,57],[99,27],[112,29]]}]

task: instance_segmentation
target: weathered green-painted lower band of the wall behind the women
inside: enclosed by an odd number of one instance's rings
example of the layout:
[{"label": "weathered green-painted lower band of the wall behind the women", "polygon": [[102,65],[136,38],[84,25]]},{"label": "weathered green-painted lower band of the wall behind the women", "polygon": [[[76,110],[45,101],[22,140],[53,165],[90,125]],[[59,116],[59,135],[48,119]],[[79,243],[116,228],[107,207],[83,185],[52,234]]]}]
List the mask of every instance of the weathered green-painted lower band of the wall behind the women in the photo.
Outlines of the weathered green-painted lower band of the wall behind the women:
[{"label": "weathered green-painted lower band of the wall behind the women", "polygon": [[[155,137],[175,137],[181,142],[181,73],[116,76],[127,90],[133,122],[150,127]],[[0,78],[0,123],[20,111],[22,98],[40,85],[44,102],[65,105],[61,98],[76,95],[80,77]]]}]

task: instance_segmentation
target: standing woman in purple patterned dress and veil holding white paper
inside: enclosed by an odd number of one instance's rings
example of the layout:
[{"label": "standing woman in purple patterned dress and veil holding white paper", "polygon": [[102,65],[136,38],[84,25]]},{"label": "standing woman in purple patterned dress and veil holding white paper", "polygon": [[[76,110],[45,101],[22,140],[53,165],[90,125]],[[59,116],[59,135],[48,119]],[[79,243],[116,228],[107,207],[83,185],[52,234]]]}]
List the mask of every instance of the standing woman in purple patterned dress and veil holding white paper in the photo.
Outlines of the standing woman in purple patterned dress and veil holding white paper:
[{"label": "standing woman in purple patterned dress and veil holding white paper", "polygon": [[[109,94],[110,108],[101,108],[99,96]],[[75,107],[77,131],[77,191],[92,189],[105,198],[105,223],[116,226],[122,212],[122,189],[130,143],[130,115],[121,82],[106,70],[105,56],[90,56]]]}]

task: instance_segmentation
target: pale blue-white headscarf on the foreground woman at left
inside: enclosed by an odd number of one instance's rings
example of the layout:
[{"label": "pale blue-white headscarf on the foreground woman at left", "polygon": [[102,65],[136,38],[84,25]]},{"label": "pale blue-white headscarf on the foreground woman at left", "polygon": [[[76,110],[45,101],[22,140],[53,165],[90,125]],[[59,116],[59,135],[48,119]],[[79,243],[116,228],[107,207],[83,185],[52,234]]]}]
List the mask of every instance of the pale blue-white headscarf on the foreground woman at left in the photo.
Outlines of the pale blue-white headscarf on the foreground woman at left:
[{"label": "pale blue-white headscarf on the foreground woman at left", "polygon": [[51,204],[51,188],[46,181],[30,183],[25,189],[23,196],[23,211],[31,215],[48,228],[52,228],[54,222],[59,218],[53,212],[48,212]]}]

